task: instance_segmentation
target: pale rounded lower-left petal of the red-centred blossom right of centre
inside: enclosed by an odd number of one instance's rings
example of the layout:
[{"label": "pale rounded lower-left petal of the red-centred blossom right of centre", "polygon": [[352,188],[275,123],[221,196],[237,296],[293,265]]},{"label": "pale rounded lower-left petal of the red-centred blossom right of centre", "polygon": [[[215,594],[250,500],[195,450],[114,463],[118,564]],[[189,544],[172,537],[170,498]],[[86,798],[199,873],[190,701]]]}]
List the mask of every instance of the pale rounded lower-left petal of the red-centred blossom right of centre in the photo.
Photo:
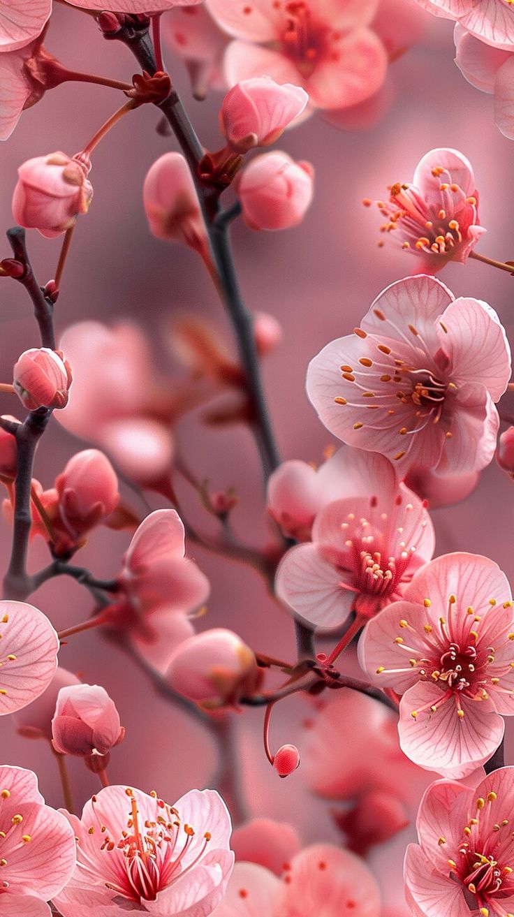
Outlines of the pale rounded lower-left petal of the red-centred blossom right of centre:
[{"label": "pale rounded lower-left petal of the red-centred blossom right of centre", "polygon": [[352,611],[355,592],[341,588],[344,573],[316,545],[291,547],[279,564],[275,591],[310,624],[336,627]]}]

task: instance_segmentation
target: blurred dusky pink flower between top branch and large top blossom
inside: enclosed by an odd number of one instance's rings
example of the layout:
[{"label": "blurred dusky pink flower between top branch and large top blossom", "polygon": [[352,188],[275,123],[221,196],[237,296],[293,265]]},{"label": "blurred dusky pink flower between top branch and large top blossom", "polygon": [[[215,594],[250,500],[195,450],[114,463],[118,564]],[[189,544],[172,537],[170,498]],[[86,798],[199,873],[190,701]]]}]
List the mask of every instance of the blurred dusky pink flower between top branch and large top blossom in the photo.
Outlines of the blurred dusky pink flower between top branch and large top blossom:
[{"label": "blurred dusky pink flower between top branch and large top blossom", "polygon": [[224,90],[224,50],[230,37],[219,28],[206,6],[180,6],[162,17],[162,37],[185,62],[194,97],[209,89]]}]

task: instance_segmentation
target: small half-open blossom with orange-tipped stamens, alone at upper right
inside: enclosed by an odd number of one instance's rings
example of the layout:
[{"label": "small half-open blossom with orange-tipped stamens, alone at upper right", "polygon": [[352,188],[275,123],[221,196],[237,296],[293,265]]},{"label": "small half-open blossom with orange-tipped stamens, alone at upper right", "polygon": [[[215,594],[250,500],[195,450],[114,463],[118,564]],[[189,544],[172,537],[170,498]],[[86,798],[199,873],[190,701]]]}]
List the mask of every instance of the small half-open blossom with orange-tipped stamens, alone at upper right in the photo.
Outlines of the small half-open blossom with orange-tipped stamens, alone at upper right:
[{"label": "small half-open blossom with orange-tipped stamens, alone at upper right", "polygon": [[[394,182],[388,193],[388,201],[376,202],[385,218],[380,231],[418,255],[432,273],[449,260],[464,263],[486,232],[479,226],[471,163],[456,149],[431,149],[412,182]],[[364,203],[372,202],[366,198]]]}]

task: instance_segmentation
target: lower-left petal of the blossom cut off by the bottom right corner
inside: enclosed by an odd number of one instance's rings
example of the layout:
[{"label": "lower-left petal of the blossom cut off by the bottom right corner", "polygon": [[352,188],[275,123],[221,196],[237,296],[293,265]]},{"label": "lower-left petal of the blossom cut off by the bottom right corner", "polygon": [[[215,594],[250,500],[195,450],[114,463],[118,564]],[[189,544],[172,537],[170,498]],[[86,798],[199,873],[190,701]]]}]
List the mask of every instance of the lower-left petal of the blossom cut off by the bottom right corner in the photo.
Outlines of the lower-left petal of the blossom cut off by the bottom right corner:
[{"label": "lower-left petal of the blossom cut off by the bottom right corner", "polygon": [[463,887],[447,874],[442,876],[417,844],[407,847],[404,877],[408,903],[415,917],[469,917]]}]

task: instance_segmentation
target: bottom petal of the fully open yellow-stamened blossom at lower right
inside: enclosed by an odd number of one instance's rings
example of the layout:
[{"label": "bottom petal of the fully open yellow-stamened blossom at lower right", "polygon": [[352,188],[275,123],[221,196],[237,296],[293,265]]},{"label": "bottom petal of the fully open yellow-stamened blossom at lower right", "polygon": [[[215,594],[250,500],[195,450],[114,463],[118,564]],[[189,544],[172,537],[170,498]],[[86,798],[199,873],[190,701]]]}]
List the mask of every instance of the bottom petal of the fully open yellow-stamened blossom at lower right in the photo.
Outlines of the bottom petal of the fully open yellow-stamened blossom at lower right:
[{"label": "bottom petal of the fully open yellow-stamened blossom at lower right", "polygon": [[428,681],[410,688],[399,702],[399,745],[421,768],[461,779],[491,757],[505,723],[493,702],[473,701],[464,693],[459,696],[464,716],[458,716],[455,697],[452,693],[442,702],[443,689]]}]

